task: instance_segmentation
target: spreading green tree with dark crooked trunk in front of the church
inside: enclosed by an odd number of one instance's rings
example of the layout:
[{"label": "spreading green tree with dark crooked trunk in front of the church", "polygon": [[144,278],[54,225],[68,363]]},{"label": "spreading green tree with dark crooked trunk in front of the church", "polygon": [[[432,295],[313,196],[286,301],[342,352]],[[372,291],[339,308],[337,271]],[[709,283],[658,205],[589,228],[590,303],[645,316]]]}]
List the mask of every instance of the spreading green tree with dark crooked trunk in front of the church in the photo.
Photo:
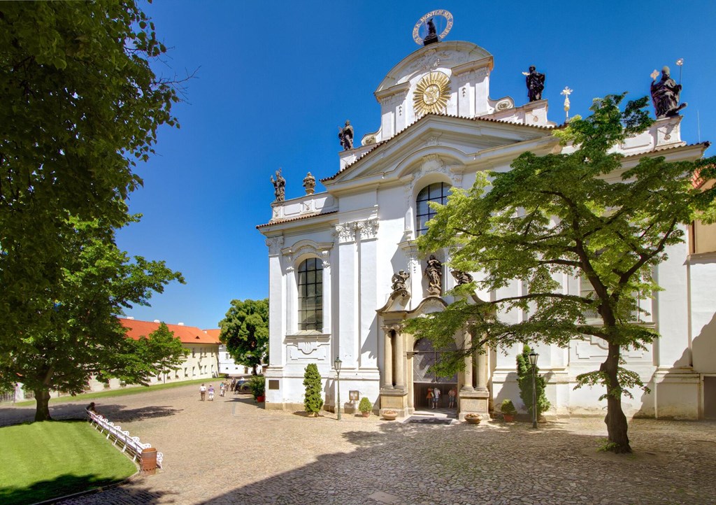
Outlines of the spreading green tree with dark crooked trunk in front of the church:
[{"label": "spreading green tree with dark crooked trunk in front of the church", "polygon": [[[558,132],[574,152],[524,153],[510,171],[478,173],[473,188],[456,188],[445,206],[434,206],[437,216],[418,240],[420,249],[447,247],[452,268],[483,271],[484,277],[455,288],[457,299],[444,312],[409,324],[416,335],[445,347],[441,342],[469,321],[480,337],[463,354],[480,352],[485,343],[507,347],[543,341],[566,347],[581,335],[604,339],[606,359],[599,370],[580,375],[578,384],[606,389],[601,398],[607,403],[609,449],[616,453],[632,451],[621,396],[642,386],[635,372],[621,367],[621,353],[644,348],[657,337],[655,330],[634,322],[639,298],[659,289],[652,269],[666,259],[667,247],[684,241],[688,223],[697,215],[713,221],[716,214],[716,189],[698,191],[692,185],[699,171],[714,177],[714,158],[667,162],[649,155],[633,168],[622,167],[623,156],[610,148],[652,123],[646,97],[621,110],[623,99],[595,100],[591,116],[577,117]],[[563,292],[563,274],[584,277],[594,292]],[[514,279],[526,282],[526,294],[489,301],[475,297],[477,288],[497,293]],[[518,308],[529,311],[528,318],[511,323],[495,317]],[[590,312],[598,322],[586,317]],[[459,369],[460,357],[453,353],[448,367]]]}]

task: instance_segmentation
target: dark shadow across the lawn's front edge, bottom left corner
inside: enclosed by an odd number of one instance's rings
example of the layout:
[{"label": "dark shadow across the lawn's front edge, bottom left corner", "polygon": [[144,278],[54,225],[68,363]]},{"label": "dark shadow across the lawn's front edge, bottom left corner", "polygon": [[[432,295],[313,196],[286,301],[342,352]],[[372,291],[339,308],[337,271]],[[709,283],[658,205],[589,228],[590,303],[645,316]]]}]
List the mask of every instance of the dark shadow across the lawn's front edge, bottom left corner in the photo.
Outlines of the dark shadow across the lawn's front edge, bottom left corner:
[{"label": "dark shadow across the lawn's front edge, bottom left corner", "polygon": [[[99,478],[96,475],[61,475],[52,480],[40,481],[26,488],[6,487],[0,489],[0,502],[4,505],[34,504],[38,501],[61,498],[83,491],[106,489],[107,486],[119,484],[121,480],[110,478]],[[121,501],[121,503],[142,503],[155,504],[163,495],[162,493],[150,493],[147,491],[132,490],[129,488],[115,488],[122,495],[133,496],[141,501]],[[119,503],[112,500],[114,503]],[[110,503],[110,501],[107,501]]]}]

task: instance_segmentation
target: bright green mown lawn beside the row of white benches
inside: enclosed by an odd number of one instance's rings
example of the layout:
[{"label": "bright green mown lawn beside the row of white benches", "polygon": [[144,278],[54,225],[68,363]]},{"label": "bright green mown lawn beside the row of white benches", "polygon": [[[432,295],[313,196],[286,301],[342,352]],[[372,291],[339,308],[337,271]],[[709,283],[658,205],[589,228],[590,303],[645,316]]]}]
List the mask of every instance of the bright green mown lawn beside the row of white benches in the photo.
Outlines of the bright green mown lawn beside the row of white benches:
[{"label": "bright green mown lawn beside the row of white benches", "polygon": [[0,503],[32,504],[123,481],[137,466],[86,421],[0,428]]}]

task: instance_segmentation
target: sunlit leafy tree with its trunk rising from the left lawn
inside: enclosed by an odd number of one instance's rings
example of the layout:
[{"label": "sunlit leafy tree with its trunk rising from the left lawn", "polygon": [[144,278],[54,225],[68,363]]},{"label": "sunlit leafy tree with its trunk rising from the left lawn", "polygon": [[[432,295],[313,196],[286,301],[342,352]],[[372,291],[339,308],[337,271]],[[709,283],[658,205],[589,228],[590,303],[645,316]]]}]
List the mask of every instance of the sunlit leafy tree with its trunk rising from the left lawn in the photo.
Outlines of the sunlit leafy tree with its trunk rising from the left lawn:
[{"label": "sunlit leafy tree with its trunk rising from the left lawn", "polygon": [[[112,232],[96,221],[74,220],[65,237],[72,244],[62,275],[52,289],[51,307],[38,314],[51,330],[26,330],[9,359],[0,362],[0,383],[24,383],[37,400],[35,420],[49,420],[49,392],[81,393],[93,375],[98,380],[118,377],[127,383],[146,384],[161,367],[185,355],[178,340],[167,335],[132,340],[116,314],[132,304],[147,305],[153,292],[163,292],[181,274],[163,261],[131,259],[120,251]],[[155,332],[157,333],[157,332]]]}]

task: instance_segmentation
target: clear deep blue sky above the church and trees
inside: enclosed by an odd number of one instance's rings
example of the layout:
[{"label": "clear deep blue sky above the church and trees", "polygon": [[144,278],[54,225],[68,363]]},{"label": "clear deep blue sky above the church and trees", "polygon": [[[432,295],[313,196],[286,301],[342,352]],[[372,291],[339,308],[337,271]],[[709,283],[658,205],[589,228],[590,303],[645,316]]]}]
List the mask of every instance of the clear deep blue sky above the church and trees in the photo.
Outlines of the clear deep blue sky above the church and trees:
[{"label": "clear deep blue sky above the church and trees", "polygon": [[[716,3],[682,1],[243,1],[155,0],[145,5],[170,47],[159,74],[196,72],[181,128],[162,128],[157,154],[140,165],[144,188],[130,198],[140,223],[120,231],[129,254],[164,259],[187,284],[155,294],[137,319],[218,327],[232,299],[268,296],[268,249],[256,225],[271,218],[269,176],[281,167],[286,198],[301,181],[338,170],[339,125],[356,138],[379,127],[373,92],[419,49],[412,27],[434,9],[454,26],[446,39],[493,54],[490,95],[527,102],[531,64],[546,74],[549,118],[589,113],[594,97],[649,93],[649,74],[684,58],[682,138],[716,140]],[[653,113],[653,111],[652,111]],[[707,151],[713,155],[714,148]],[[320,185],[316,191],[324,191]]]}]

